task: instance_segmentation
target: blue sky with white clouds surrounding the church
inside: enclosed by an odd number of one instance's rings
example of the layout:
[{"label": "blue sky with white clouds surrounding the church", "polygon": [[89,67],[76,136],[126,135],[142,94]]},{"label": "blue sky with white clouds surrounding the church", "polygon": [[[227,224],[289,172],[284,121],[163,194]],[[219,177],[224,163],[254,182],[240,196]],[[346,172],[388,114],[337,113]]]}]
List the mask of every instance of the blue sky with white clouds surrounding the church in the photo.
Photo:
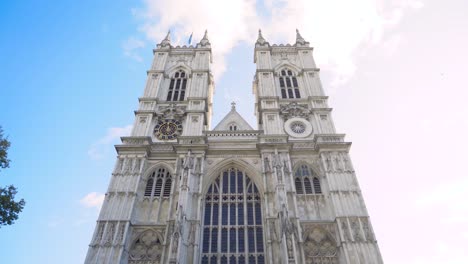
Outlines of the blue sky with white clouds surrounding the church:
[{"label": "blue sky with white clouds surrounding the church", "polygon": [[237,101],[252,124],[253,43],[295,29],[315,47],[338,132],[386,263],[466,263],[468,3],[10,1],[0,4],[0,125],[27,201],[0,229],[2,263],[83,263],[152,48],[208,29],[213,124]]}]

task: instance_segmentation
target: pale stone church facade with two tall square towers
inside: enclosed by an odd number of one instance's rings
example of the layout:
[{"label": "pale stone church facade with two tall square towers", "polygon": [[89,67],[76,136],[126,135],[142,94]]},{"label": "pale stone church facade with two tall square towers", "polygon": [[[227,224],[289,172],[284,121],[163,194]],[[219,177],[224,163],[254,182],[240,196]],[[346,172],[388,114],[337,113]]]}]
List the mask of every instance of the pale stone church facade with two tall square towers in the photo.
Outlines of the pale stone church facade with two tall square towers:
[{"label": "pale stone church facade with two tall square towers", "polygon": [[[86,264],[383,263],[313,49],[259,32],[258,129],[210,130],[211,44],[153,50],[131,136],[116,146]],[[221,102],[217,102],[221,103]]]}]

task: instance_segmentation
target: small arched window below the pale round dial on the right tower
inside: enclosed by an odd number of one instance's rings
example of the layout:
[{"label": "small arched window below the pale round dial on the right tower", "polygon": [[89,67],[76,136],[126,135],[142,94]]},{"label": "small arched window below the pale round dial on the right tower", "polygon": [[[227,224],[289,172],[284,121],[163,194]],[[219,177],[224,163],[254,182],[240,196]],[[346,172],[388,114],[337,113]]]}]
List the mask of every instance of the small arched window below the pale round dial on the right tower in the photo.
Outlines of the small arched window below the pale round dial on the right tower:
[{"label": "small arched window below the pale round dial on the right tower", "polygon": [[297,194],[321,194],[319,178],[307,165],[301,165],[294,173],[294,183]]}]

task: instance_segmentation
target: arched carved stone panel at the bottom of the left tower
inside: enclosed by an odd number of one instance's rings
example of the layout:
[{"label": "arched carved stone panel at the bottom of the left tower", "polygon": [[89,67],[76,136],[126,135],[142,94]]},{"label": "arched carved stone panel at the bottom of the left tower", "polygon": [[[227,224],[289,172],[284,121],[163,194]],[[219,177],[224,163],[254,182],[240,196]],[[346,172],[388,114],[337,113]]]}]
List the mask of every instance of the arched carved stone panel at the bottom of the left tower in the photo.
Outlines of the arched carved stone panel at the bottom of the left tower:
[{"label": "arched carved stone panel at the bottom of the left tower", "polygon": [[161,231],[146,230],[133,242],[129,264],[160,264],[163,252]]}]

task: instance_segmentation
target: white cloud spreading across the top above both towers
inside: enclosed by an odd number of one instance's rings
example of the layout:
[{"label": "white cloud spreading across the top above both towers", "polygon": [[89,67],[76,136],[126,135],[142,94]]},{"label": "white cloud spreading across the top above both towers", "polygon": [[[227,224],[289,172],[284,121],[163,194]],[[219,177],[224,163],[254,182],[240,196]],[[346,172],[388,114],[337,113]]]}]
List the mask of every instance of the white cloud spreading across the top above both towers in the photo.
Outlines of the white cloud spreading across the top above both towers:
[{"label": "white cloud spreading across the top above both towers", "polygon": [[[381,44],[386,31],[397,25],[409,9],[423,6],[419,0],[240,0],[162,1],[144,0],[133,9],[142,19],[140,30],[153,43],[168,29],[173,44],[194,41],[209,30],[213,47],[213,73],[219,79],[226,70],[226,55],[240,42],[254,43],[263,29],[270,43],[294,43],[295,29],[317,47],[321,66],[333,69],[335,84],[346,82],[356,71],[354,57],[369,46]],[[394,40],[393,40],[394,41]],[[395,43],[390,43],[392,48]]]}]

